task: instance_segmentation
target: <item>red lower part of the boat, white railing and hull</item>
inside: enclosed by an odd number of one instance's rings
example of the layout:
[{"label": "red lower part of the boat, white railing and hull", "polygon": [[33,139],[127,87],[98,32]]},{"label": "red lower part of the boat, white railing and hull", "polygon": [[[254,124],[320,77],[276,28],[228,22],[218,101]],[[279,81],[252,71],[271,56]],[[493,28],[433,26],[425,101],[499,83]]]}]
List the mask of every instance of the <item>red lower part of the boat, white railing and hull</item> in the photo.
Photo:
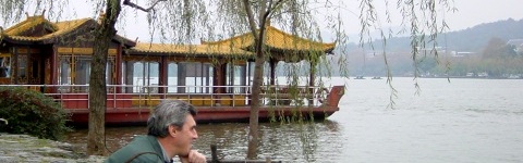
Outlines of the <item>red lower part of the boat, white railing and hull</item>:
[{"label": "red lower part of the boat, white railing and hull", "polygon": [[[62,103],[71,114],[71,124],[88,124],[89,95],[88,86],[66,85],[0,85],[7,87],[25,87],[35,91],[44,91]],[[251,95],[246,86],[229,87],[233,93],[205,92],[158,92],[174,87],[134,87],[132,90],[155,90],[122,92],[131,86],[108,86],[106,124],[145,124],[153,110],[161,100],[177,99],[192,103],[198,111],[198,123],[248,122]],[[153,89],[151,89],[153,88]],[[265,87],[262,91],[259,121],[269,121],[278,116],[301,116],[304,118],[324,120],[339,110],[338,102],[343,96],[343,86],[335,86],[330,90],[319,87],[300,87],[289,89],[284,86]],[[72,90],[83,91],[72,91]],[[185,90],[196,90],[184,87]],[[52,92],[58,90],[57,92]],[[114,90],[117,90],[114,92]],[[131,90],[131,89],[127,89]],[[204,90],[204,89],[202,89]],[[330,103],[329,103],[330,102]]]}]

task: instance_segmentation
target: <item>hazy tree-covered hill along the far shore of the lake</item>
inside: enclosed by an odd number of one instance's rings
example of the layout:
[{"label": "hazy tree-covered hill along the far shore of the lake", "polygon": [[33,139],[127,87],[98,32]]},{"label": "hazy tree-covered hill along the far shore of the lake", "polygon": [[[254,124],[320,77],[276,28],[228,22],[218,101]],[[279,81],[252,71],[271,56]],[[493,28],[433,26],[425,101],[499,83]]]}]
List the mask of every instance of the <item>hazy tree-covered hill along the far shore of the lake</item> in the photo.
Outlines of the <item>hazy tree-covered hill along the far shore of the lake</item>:
[{"label": "hazy tree-covered hill along the far shore of the lake", "polygon": [[[352,43],[344,48],[346,52],[331,55],[332,61],[343,55],[348,60],[351,76],[385,76],[387,67],[384,62],[386,52],[389,70],[393,76],[427,77],[494,77],[520,78],[523,76],[523,45],[508,43],[509,40],[523,39],[523,20],[506,20],[438,35],[437,48],[421,49],[416,62],[412,61],[409,37],[397,37],[387,40],[375,40],[374,49],[368,45]],[[437,57],[435,57],[437,51]],[[415,70],[414,64],[418,65]],[[333,62],[333,74],[341,74]]]}]

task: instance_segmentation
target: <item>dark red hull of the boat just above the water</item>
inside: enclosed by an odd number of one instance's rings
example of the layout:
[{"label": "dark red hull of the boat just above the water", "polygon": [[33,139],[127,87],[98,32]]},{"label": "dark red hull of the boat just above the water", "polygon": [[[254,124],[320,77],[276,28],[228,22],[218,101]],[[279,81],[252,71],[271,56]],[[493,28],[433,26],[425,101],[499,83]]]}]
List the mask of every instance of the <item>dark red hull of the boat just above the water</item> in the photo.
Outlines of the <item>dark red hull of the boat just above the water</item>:
[{"label": "dark red hull of the boat just above the water", "polygon": [[[107,109],[106,125],[107,126],[129,126],[145,125],[149,117],[151,109]],[[208,123],[248,123],[251,115],[251,106],[199,106],[196,108],[198,114],[196,122],[198,124]],[[88,110],[68,110],[73,126],[87,126],[89,120]],[[295,116],[306,120],[325,120],[335,112],[339,111],[338,106],[316,106],[316,108],[295,108],[295,106],[262,106],[259,109],[258,120],[268,122],[272,117],[278,120],[281,116]]]}]

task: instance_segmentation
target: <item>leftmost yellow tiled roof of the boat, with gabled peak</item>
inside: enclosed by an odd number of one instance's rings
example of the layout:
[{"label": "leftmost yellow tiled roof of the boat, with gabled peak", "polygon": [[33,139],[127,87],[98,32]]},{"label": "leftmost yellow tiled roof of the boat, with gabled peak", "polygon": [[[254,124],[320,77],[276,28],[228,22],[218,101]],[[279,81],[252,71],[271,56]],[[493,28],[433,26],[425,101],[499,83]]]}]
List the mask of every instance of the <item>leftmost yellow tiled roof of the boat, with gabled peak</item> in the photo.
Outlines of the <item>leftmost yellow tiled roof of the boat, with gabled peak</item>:
[{"label": "leftmost yellow tiled roof of the boat, with gabled peak", "polygon": [[[34,18],[34,17],[36,17],[36,18]],[[64,21],[64,22],[58,22],[58,23],[54,23],[54,24],[49,22],[53,26],[53,28],[56,28],[56,32],[53,32],[51,34],[44,35],[41,37],[17,36],[17,35],[20,35],[20,33],[25,32],[26,29],[29,29],[29,28],[40,24],[42,21],[47,21],[42,16],[33,16],[33,17],[28,17],[26,21],[24,21],[22,23],[16,24],[13,27],[10,27],[9,29],[5,30],[4,34],[7,34],[7,36],[10,37],[11,39],[15,39],[15,40],[38,41],[38,40],[45,40],[45,39],[52,38],[52,37],[58,37],[60,35],[72,32],[72,30],[76,29],[78,26],[81,26],[82,24],[86,23],[89,20],[92,20],[92,18]]]}]

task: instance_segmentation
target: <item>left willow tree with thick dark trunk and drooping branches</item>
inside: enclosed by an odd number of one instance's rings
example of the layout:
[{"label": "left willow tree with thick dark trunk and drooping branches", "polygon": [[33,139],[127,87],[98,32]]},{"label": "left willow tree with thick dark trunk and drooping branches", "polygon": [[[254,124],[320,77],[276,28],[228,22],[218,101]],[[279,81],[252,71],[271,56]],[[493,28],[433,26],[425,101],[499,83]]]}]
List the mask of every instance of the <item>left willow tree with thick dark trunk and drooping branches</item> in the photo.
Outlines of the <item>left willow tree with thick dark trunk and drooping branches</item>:
[{"label": "left willow tree with thick dark trunk and drooping branches", "polygon": [[[165,1],[165,2],[161,2]],[[161,3],[160,3],[161,2]],[[141,7],[131,0],[106,0],[105,16],[101,23],[95,29],[94,54],[90,72],[89,89],[89,134],[87,136],[87,153],[105,154],[105,110],[107,100],[106,89],[106,64],[108,57],[108,45],[115,36],[114,28],[122,4],[130,8],[147,12],[149,15],[149,28],[151,30],[162,30],[163,36],[185,36],[175,37],[171,42],[183,42],[193,38],[192,26],[198,25],[193,22],[204,22],[205,16],[197,16],[197,13],[205,13],[205,5],[197,1],[190,0],[153,0],[147,5]],[[157,7],[158,5],[158,7]],[[150,12],[160,9],[159,12]],[[199,12],[194,12],[199,11]],[[202,12],[204,11],[204,12]],[[195,17],[198,21],[193,21]],[[162,20],[167,20],[163,22]],[[175,30],[178,29],[178,30]],[[169,35],[170,34],[170,35]]]}]

